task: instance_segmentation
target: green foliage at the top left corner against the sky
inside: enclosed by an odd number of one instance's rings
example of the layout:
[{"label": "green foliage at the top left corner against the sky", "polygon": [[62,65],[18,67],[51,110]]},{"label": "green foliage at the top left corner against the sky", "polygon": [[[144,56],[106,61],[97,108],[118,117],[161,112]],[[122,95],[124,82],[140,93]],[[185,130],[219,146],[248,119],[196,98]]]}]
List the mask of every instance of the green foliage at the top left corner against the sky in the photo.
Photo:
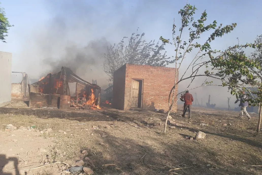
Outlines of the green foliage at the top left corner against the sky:
[{"label": "green foliage at the top left corner against the sky", "polygon": [[[1,3],[0,3],[1,4]],[[8,18],[6,17],[6,12],[4,8],[0,8],[0,40],[6,43],[6,37],[8,36],[8,30],[10,27],[14,25],[10,25]]]}]

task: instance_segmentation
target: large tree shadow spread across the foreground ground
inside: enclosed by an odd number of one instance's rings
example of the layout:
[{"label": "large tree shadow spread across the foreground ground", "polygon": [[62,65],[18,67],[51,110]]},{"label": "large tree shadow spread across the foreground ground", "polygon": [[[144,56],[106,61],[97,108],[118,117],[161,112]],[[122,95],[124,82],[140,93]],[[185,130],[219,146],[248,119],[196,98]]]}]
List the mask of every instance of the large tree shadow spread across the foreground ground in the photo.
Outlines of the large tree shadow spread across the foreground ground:
[{"label": "large tree shadow spread across the foreground ground", "polygon": [[[261,168],[255,167],[255,170],[249,168],[235,167],[234,162],[228,163],[219,154],[207,147],[199,144],[198,141],[186,144],[185,142],[163,142],[163,140],[154,140],[148,143],[144,140],[132,140],[129,138],[119,138],[110,135],[105,131],[95,131],[96,134],[104,135],[100,149],[93,156],[89,157],[95,160],[96,174],[120,174],[129,173],[134,175],[141,174],[168,174],[172,168],[177,169],[173,172],[178,174],[259,174]],[[165,137],[165,136],[163,136]],[[138,143],[139,142],[139,143]],[[95,143],[99,144],[99,143]],[[161,144],[162,150],[154,149],[155,144]],[[81,148],[89,149],[89,148]],[[94,151],[94,150],[92,150]],[[90,152],[92,152],[90,150]],[[255,157],[255,155],[250,155]],[[256,158],[257,159],[257,158]],[[102,167],[104,164],[115,164],[114,166]],[[262,163],[262,162],[260,162]]]}]

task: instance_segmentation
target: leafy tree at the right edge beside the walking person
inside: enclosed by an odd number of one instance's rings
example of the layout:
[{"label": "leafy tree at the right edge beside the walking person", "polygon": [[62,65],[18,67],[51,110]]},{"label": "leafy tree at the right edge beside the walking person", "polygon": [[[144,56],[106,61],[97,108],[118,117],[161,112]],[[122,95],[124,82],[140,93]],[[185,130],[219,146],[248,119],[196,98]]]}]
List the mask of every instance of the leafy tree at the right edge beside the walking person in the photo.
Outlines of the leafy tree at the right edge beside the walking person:
[{"label": "leafy tree at the right edge beside the walking person", "polygon": [[[249,105],[259,106],[259,120],[256,131],[260,131],[261,115],[262,115],[262,35],[257,36],[253,44],[254,52],[249,59],[245,57],[242,49],[234,50],[233,55],[239,55],[240,59],[234,59],[231,65],[241,66],[246,65],[246,69],[240,69],[234,72],[234,77],[228,79],[230,81],[229,89],[232,94],[238,97],[242,91],[247,92]],[[230,55],[232,57],[232,55]],[[249,63],[249,64],[248,64]],[[254,66],[255,65],[255,66]],[[226,70],[229,71],[229,70]],[[240,72],[242,71],[242,72]],[[243,84],[244,87],[239,90],[235,84]]]}]

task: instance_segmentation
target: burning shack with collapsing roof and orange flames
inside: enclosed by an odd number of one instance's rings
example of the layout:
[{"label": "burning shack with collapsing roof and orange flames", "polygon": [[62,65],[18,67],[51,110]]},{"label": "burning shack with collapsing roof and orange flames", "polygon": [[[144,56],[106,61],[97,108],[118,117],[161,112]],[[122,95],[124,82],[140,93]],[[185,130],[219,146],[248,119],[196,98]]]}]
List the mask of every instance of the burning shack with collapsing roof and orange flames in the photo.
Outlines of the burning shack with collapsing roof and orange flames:
[{"label": "burning shack with collapsing roof and orange flames", "polygon": [[[75,92],[69,83],[75,83]],[[29,106],[59,107],[60,109],[99,109],[101,88],[75,75],[69,68],[62,67],[58,73],[49,73],[38,82],[29,84]],[[72,87],[71,87],[72,88]]]}]

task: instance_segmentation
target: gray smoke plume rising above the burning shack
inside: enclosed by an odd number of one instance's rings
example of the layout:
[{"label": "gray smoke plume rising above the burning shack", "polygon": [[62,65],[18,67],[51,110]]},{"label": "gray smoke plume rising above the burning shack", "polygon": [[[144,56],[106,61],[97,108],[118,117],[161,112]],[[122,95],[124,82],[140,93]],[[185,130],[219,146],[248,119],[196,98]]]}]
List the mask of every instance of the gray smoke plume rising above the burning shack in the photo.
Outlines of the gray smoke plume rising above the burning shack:
[{"label": "gray smoke plume rising above the burning shack", "polygon": [[110,43],[106,34],[97,32],[99,25],[92,19],[96,10],[85,1],[50,1],[46,5],[53,17],[36,26],[21,54],[28,60],[29,76],[39,79],[65,66],[90,83],[96,79],[99,86],[108,87],[103,55]]}]

